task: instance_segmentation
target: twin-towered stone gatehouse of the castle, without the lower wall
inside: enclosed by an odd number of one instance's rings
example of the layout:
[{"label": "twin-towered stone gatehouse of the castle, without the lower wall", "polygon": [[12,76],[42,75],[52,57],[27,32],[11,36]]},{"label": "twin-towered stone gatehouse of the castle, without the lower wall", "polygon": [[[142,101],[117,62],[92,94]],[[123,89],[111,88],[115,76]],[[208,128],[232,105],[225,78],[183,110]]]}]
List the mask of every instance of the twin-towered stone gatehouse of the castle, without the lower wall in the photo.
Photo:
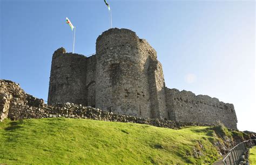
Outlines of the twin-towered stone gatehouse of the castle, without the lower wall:
[{"label": "twin-towered stone gatehouse of the castle, without the lower wall", "polygon": [[100,35],[96,55],[52,57],[48,104],[71,102],[144,118],[168,118],[156,51],[126,29]]}]

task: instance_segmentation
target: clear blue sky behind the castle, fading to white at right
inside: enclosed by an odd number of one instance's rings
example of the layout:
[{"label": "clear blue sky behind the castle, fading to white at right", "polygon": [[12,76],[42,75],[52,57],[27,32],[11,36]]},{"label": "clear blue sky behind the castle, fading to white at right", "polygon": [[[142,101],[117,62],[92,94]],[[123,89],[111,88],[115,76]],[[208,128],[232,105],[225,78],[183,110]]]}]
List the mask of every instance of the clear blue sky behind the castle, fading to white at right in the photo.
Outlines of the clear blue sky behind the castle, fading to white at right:
[{"label": "clear blue sky behind the castle, fading to white at right", "polygon": [[[52,53],[95,53],[110,27],[103,0],[1,1],[1,75],[47,100]],[[238,128],[255,128],[254,1],[108,1],[113,27],[129,28],[156,49],[166,86],[233,103]],[[254,126],[253,126],[254,125]]]}]

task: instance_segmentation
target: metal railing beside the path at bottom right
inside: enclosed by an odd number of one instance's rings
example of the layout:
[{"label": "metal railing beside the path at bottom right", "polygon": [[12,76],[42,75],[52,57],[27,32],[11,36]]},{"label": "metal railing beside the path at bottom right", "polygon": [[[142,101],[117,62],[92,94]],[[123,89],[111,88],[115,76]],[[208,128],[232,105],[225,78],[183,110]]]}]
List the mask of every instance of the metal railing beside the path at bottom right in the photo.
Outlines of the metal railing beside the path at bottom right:
[{"label": "metal railing beside the path at bottom right", "polygon": [[254,146],[256,139],[246,140],[240,142],[237,146],[234,146],[227,156],[223,159],[223,163],[227,164],[239,164],[241,156],[244,154],[248,147]]}]

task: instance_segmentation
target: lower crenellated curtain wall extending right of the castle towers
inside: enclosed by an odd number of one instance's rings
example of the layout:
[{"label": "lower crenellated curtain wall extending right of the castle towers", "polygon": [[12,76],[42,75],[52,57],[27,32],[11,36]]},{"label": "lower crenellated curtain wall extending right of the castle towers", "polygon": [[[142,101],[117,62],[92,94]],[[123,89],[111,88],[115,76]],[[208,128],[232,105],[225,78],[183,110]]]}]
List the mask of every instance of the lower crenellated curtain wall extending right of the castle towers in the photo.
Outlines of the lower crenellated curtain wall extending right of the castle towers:
[{"label": "lower crenellated curtain wall extending right of the castle towers", "polygon": [[196,96],[191,91],[166,88],[167,109],[170,119],[198,122],[237,129],[237,116],[233,104],[220,102],[206,95]]}]

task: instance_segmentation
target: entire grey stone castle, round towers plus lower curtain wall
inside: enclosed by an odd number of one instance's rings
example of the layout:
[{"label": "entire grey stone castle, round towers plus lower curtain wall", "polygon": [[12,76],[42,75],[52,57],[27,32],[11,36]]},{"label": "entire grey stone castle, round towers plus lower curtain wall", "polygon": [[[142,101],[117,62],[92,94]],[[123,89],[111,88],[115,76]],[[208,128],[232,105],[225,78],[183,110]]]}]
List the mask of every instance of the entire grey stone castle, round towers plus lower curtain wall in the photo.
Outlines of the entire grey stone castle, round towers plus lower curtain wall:
[{"label": "entire grey stone castle, round towers plus lower curtain wall", "polygon": [[86,57],[59,48],[52,56],[48,104],[74,103],[141,118],[237,128],[233,104],[165,87],[156,51],[127,29],[111,28]]}]

